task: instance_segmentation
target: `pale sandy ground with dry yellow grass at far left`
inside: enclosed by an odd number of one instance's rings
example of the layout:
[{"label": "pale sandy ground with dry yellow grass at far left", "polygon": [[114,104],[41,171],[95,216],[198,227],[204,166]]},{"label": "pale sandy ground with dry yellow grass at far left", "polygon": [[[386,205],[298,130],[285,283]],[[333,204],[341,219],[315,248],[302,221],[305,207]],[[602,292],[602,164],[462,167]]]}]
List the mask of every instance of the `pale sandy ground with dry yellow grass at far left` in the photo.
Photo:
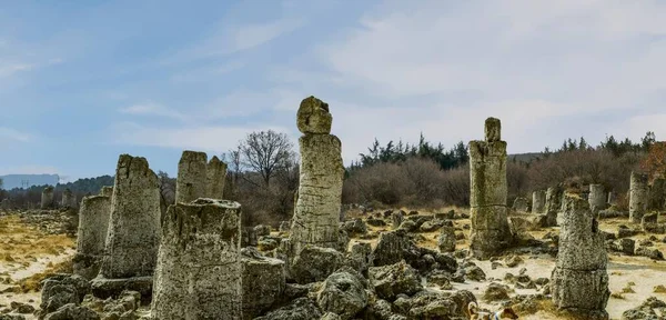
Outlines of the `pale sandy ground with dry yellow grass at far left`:
[{"label": "pale sandy ground with dry yellow grass at far left", "polygon": [[74,251],[74,239],[46,234],[16,214],[0,216],[0,311],[11,302],[39,308],[39,282],[49,273],[69,271]]}]

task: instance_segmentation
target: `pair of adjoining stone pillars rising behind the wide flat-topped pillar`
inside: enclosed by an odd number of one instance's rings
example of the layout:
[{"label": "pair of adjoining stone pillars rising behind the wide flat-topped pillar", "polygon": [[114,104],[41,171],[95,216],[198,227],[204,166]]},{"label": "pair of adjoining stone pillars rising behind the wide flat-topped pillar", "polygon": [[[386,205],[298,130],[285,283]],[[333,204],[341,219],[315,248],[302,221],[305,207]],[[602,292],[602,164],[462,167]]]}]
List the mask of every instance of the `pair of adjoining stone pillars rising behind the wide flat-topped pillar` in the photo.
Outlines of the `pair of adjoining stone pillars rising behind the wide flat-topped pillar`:
[{"label": "pair of adjoining stone pillars rising behind the wide flat-topped pillar", "polygon": [[189,203],[199,198],[222,199],[226,163],[205,152],[183,151],[178,162],[175,203]]}]

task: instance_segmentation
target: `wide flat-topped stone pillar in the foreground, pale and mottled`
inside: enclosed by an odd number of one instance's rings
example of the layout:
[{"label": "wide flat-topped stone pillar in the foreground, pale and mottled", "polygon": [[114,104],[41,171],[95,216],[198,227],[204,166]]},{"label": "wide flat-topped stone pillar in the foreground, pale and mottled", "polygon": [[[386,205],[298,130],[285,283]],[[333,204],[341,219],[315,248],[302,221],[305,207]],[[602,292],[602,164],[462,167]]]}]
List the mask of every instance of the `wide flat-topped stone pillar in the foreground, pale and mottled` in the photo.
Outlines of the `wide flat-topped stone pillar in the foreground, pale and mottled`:
[{"label": "wide flat-topped stone pillar in the foreground, pale and mottled", "polygon": [[241,204],[204,198],[170,206],[155,269],[153,319],[241,319],[242,269]]}]

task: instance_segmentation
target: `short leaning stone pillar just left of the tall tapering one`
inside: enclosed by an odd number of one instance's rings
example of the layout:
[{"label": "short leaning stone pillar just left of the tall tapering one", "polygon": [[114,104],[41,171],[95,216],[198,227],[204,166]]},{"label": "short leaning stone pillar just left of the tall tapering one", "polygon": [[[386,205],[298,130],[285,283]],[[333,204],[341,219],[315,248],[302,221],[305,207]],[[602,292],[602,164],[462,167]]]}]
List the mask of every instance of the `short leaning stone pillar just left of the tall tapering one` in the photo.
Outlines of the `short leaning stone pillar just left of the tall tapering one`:
[{"label": "short leaning stone pillar just left of the tall tapering one", "polygon": [[107,196],[84,197],[79,209],[77,253],[73,258],[74,273],[87,279],[94,278],[107,244],[111,198]]}]

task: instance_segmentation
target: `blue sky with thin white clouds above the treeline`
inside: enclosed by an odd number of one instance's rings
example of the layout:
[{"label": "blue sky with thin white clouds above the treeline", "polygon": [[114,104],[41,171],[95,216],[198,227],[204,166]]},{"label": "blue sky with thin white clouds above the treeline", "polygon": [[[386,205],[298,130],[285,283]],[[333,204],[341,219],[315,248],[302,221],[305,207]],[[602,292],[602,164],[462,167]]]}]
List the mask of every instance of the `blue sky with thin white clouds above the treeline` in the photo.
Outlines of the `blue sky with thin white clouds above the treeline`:
[{"label": "blue sky with thin white clouds above the treeline", "polygon": [[[74,3],[75,2],[75,3]],[[175,173],[331,106],[349,163],[375,137],[508,151],[666,137],[664,1],[13,1],[0,9],[0,174]]]}]

